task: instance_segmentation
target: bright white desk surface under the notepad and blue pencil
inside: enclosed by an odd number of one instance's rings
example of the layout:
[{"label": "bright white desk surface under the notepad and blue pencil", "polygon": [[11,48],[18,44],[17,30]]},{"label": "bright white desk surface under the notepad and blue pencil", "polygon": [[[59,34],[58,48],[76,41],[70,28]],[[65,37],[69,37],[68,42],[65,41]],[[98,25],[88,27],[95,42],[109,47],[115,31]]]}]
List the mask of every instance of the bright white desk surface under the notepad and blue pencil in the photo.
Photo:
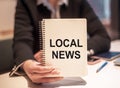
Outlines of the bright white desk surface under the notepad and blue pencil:
[{"label": "bright white desk surface under the notepad and blue pencil", "polygon": [[[113,41],[111,51],[120,51],[120,40]],[[120,88],[120,67],[114,66],[109,62],[99,73],[96,69],[103,62],[96,65],[88,65],[88,75],[83,77],[87,82],[86,85],[67,85],[67,86],[41,86],[33,84],[24,77],[11,77],[8,74],[0,75],[1,88]]]}]

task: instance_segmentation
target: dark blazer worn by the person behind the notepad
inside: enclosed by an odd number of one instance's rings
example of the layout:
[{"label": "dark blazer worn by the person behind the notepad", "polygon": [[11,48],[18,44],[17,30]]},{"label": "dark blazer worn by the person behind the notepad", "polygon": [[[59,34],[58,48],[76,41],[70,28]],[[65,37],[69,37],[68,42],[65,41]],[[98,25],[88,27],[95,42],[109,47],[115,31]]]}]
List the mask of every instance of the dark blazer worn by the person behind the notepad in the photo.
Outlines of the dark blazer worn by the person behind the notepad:
[{"label": "dark blazer worn by the person behind the notepad", "polygon": [[[39,10],[38,10],[39,8]],[[39,39],[39,20],[50,18],[51,12],[36,0],[18,0],[15,13],[14,58],[19,65],[27,59],[34,59],[33,54],[41,48]],[[110,38],[86,0],[69,0],[69,5],[60,7],[61,18],[87,18],[88,50],[95,53],[108,51]]]}]

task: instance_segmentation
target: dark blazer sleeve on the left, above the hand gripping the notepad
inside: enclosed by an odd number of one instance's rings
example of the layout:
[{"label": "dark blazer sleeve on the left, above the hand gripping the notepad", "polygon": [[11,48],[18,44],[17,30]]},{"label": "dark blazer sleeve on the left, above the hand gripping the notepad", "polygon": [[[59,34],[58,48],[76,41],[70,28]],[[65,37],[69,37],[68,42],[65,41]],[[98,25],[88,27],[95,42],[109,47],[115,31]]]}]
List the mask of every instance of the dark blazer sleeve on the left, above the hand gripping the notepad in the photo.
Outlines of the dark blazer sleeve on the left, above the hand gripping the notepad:
[{"label": "dark blazer sleeve on the left, above the hand gripping the notepad", "polygon": [[13,52],[16,65],[33,56],[33,27],[27,7],[18,0],[15,13]]}]

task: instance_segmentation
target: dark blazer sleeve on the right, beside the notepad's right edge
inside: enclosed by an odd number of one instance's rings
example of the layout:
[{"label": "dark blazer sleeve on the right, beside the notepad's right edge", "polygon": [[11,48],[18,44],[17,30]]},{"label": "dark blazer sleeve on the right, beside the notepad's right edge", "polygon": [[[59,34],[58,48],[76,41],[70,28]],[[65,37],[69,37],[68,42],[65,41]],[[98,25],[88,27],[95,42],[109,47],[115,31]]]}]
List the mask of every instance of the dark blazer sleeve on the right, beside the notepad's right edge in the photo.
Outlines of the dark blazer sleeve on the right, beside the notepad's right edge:
[{"label": "dark blazer sleeve on the right, beside the notepad's right edge", "polygon": [[88,50],[93,49],[95,54],[108,51],[110,49],[110,37],[86,0],[82,0],[80,12],[82,18],[87,18],[87,31],[90,37],[88,39]]}]

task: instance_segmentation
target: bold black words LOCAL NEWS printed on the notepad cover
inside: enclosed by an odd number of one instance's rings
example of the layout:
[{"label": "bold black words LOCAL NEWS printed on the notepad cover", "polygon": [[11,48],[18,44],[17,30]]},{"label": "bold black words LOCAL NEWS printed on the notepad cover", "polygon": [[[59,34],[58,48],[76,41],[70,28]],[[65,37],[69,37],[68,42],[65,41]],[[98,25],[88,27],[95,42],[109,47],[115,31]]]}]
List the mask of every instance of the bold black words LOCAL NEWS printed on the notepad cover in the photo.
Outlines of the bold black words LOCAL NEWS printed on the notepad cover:
[{"label": "bold black words LOCAL NEWS printed on the notepad cover", "polygon": [[[59,47],[61,48],[61,50],[59,51],[52,51],[52,59],[80,59],[80,51],[75,49],[77,47],[83,47],[83,45],[80,44],[80,40],[79,39],[56,39],[56,41],[53,42],[52,39],[50,39],[50,47],[54,48],[54,47]],[[66,47],[66,48],[71,48],[71,47],[76,47],[73,48],[73,50],[62,50],[62,47]],[[77,48],[78,49],[78,48]],[[54,50],[54,49],[53,49]]]}]

